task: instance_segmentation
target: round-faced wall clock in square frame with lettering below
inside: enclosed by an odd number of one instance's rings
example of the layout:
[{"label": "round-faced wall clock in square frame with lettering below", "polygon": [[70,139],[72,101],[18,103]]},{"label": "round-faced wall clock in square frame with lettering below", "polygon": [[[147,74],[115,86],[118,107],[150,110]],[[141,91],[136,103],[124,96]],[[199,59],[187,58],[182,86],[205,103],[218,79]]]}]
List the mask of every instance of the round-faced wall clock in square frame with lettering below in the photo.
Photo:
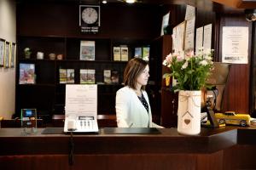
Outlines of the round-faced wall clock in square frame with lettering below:
[{"label": "round-faced wall clock in square frame with lettering below", "polygon": [[81,32],[97,33],[100,25],[100,6],[80,5],[79,6],[79,26]]}]

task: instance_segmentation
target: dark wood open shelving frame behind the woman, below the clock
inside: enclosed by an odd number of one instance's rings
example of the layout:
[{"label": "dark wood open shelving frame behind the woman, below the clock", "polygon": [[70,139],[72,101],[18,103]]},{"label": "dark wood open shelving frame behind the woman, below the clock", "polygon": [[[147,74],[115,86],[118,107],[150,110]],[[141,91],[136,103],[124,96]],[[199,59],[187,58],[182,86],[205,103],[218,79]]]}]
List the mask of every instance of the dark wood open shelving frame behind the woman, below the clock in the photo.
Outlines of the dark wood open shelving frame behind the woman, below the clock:
[{"label": "dark wood open shelving frame behind the woman, below the clock", "polygon": [[[80,41],[95,41],[95,60],[80,60]],[[125,44],[129,48],[129,59],[137,46],[148,46],[147,40],[116,40],[110,38],[79,37],[24,37],[18,36],[17,60],[17,97],[16,113],[22,108],[37,108],[40,118],[51,119],[53,114],[64,114],[65,84],[60,83],[60,69],[74,70],[74,83],[80,83],[80,69],[94,69],[98,83],[98,114],[115,114],[115,94],[123,85],[123,73],[127,61],[113,61],[113,47]],[[146,43],[148,42],[148,43]],[[24,48],[31,48],[30,59],[25,59]],[[37,52],[44,53],[44,59],[37,59]],[[49,54],[63,54],[63,59],[49,59]],[[20,84],[20,63],[35,65],[36,81],[34,84]],[[117,71],[118,84],[103,83],[103,71]],[[155,81],[154,81],[155,82]],[[148,88],[151,90],[151,88]],[[152,95],[151,95],[152,96]]]}]

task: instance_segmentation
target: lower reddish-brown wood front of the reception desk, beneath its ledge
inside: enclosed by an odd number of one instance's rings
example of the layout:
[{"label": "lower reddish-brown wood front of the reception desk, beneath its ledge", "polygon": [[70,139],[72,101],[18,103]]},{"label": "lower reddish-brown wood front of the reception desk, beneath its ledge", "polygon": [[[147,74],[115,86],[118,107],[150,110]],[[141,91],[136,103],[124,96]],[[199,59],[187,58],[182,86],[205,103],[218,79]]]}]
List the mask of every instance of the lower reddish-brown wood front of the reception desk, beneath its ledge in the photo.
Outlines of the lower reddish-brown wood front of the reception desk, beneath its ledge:
[{"label": "lower reddish-brown wood front of the reception desk, beneath its ledge", "polygon": [[[213,154],[213,159],[216,158]],[[201,159],[198,157],[205,157]],[[219,160],[219,159],[216,159]],[[38,155],[38,156],[3,156],[0,157],[3,169],[89,169],[119,170],[169,170],[169,169],[222,169],[222,161],[212,161],[212,155],[196,156],[192,154],[140,154],[140,155],[75,155],[74,164],[69,165],[67,155]],[[33,163],[31,163],[33,162]],[[207,165],[207,163],[210,163]]]}]

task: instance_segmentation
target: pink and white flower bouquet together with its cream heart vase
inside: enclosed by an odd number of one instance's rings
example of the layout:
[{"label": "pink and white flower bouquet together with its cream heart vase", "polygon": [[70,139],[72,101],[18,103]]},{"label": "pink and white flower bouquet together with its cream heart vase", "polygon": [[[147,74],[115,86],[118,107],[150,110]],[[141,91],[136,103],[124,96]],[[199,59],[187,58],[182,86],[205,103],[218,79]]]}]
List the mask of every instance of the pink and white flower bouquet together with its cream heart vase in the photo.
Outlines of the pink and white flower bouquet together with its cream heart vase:
[{"label": "pink and white flower bouquet together with its cream heart vase", "polygon": [[168,54],[163,65],[170,68],[171,73],[163,75],[173,77],[177,83],[172,87],[178,94],[177,132],[195,135],[201,132],[201,88],[207,88],[207,77],[213,69],[213,51],[198,54],[193,51],[184,54]]}]

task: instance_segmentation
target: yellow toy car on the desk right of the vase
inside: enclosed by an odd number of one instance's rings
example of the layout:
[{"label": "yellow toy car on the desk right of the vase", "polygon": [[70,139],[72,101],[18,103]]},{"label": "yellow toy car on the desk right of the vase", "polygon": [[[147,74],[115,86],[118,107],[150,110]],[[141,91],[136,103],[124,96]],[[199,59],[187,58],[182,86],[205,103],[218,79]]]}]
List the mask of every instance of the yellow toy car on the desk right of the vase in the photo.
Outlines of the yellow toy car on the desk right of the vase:
[{"label": "yellow toy car on the desk right of the vase", "polygon": [[225,111],[224,113],[215,113],[219,124],[240,125],[241,127],[249,126],[251,116],[248,114],[236,114],[235,111]]}]

